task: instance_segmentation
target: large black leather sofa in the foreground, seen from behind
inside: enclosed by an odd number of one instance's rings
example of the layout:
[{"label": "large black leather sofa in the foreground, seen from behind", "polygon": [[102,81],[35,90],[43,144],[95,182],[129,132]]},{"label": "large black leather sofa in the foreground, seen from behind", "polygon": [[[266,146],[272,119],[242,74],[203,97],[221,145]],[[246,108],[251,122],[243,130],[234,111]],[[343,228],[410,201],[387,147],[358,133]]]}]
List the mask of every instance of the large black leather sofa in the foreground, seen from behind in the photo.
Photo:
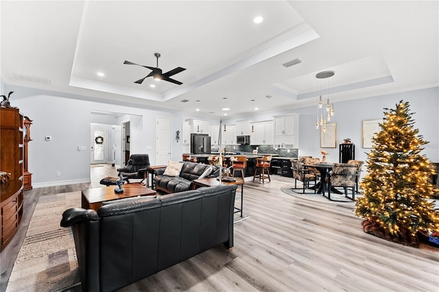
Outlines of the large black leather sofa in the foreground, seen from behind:
[{"label": "large black leather sofa in the foreground, seen from behind", "polygon": [[120,199],[95,210],[71,208],[82,291],[114,291],[219,244],[233,247],[237,186]]}]

